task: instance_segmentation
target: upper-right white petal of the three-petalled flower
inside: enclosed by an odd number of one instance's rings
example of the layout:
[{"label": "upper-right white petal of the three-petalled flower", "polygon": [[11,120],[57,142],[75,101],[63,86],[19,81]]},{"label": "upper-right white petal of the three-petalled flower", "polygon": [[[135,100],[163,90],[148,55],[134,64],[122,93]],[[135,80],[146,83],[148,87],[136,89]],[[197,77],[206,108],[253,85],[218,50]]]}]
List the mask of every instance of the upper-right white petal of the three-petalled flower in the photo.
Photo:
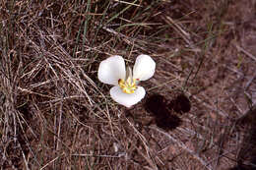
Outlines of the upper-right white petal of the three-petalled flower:
[{"label": "upper-right white petal of the three-petalled flower", "polygon": [[133,67],[133,78],[146,81],[153,77],[155,69],[156,63],[149,55],[139,55]]}]

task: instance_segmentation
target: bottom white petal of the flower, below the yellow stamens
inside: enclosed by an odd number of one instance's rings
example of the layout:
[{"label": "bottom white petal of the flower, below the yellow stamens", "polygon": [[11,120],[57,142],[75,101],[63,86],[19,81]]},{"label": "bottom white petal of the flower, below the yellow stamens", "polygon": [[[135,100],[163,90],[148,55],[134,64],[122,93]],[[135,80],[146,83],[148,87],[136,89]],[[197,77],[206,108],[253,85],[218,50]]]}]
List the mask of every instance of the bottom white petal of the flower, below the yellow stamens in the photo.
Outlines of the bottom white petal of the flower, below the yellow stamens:
[{"label": "bottom white petal of the flower, below the yellow stamens", "polygon": [[113,86],[110,89],[110,96],[113,100],[126,107],[131,107],[141,101],[145,94],[146,91],[142,86],[138,86],[134,93],[131,94],[124,93],[119,86]]}]

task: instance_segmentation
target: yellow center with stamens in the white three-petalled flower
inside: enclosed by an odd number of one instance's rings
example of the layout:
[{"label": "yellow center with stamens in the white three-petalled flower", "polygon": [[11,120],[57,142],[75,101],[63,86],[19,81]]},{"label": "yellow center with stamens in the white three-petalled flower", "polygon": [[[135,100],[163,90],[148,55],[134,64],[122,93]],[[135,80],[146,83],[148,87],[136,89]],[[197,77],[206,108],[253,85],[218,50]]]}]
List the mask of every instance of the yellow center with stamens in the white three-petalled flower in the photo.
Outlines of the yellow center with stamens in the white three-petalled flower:
[{"label": "yellow center with stamens in the white three-petalled flower", "polygon": [[137,89],[136,79],[128,77],[125,81],[123,79],[118,80],[118,85],[121,87],[123,92],[131,94]]}]

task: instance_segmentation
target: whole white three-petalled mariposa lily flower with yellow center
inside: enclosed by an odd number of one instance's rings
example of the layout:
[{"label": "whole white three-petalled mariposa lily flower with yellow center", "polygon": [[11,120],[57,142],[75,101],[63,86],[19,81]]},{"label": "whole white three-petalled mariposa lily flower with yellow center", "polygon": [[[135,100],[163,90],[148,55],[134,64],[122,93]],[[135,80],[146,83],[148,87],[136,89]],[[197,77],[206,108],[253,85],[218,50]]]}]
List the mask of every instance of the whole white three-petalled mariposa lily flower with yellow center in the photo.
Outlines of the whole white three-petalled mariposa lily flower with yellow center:
[{"label": "whole white three-petalled mariposa lily flower with yellow center", "polygon": [[139,86],[139,83],[152,78],[155,69],[156,63],[149,55],[139,55],[133,70],[125,67],[121,56],[114,55],[99,64],[97,77],[104,84],[114,85],[110,88],[110,96],[114,101],[131,107],[146,94],[144,87]]}]

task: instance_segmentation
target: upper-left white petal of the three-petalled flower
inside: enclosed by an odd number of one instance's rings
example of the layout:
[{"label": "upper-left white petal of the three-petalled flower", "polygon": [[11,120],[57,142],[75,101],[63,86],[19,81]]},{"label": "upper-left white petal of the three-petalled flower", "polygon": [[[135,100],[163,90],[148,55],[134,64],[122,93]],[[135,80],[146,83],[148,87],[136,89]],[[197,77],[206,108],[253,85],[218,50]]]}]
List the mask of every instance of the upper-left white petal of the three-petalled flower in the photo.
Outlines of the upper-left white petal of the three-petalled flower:
[{"label": "upper-left white petal of the three-petalled flower", "polygon": [[111,56],[100,62],[97,78],[101,83],[118,85],[119,79],[125,79],[124,59],[119,56]]}]

